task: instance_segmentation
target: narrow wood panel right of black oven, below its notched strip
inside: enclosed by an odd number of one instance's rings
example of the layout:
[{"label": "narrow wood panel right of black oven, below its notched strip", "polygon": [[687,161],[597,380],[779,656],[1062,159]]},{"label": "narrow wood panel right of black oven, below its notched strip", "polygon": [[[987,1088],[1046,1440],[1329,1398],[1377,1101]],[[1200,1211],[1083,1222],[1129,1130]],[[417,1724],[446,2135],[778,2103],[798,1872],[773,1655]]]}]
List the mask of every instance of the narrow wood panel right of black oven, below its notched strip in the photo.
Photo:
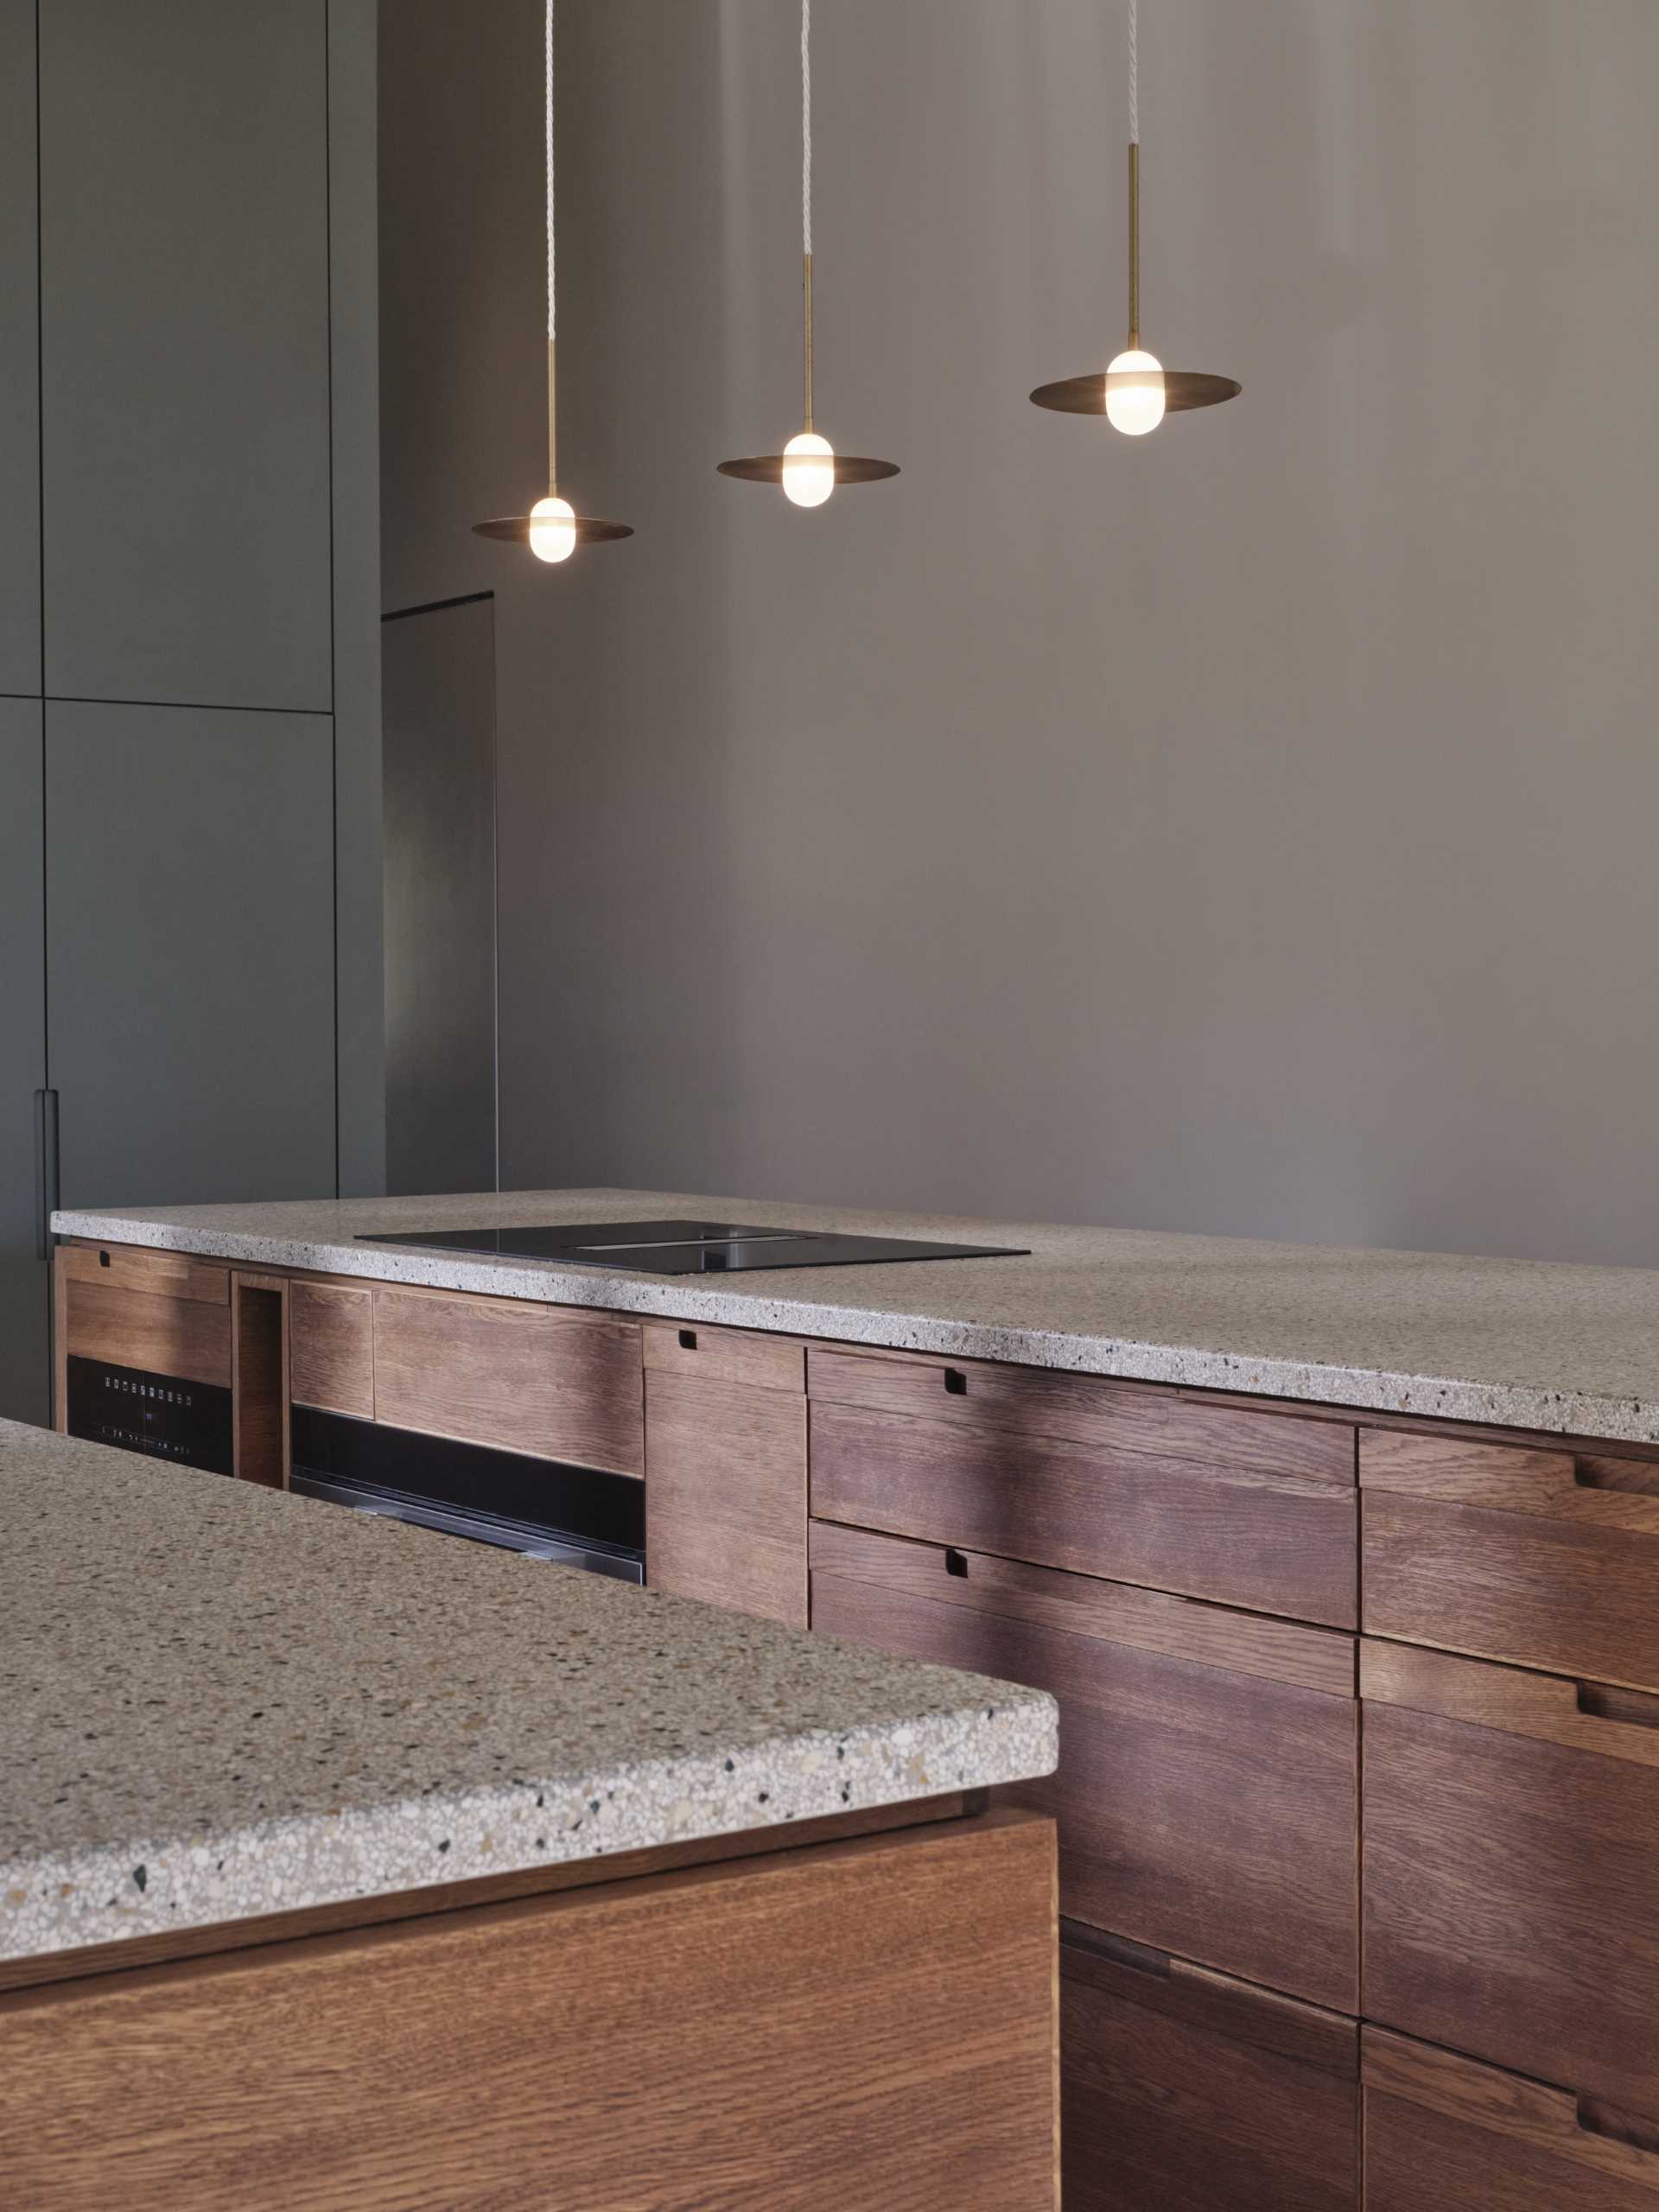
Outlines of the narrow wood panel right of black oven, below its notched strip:
[{"label": "narrow wood panel right of black oven, below its notched strip", "polygon": [[807,1402],[646,1374],[646,1582],[807,1626]]}]

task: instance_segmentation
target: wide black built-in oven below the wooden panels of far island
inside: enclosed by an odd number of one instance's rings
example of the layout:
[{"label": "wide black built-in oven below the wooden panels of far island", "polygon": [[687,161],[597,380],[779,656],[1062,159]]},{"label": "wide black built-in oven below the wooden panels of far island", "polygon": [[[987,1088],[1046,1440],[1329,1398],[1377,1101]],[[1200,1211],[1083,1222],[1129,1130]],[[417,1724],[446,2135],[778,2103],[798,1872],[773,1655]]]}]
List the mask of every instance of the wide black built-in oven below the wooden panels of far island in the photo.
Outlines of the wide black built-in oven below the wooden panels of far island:
[{"label": "wide black built-in oven below the wooden panels of far island", "polygon": [[646,1484],[562,1460],[292,1409],[292,1489],[619,1582],[646,1579]]}]

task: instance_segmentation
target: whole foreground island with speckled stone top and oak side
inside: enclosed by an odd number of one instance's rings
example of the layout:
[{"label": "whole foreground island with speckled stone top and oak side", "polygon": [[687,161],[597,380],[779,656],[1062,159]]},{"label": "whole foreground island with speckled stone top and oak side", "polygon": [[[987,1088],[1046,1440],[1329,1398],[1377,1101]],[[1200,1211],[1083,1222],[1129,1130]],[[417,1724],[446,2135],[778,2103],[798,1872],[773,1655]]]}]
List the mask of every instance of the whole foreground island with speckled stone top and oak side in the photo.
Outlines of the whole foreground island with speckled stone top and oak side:
[{"label": "whole foreground island with speckled stone top and oak side", "polygon": [[1053,2203],[1040,1692],[0,1425],[0,2197]]}]

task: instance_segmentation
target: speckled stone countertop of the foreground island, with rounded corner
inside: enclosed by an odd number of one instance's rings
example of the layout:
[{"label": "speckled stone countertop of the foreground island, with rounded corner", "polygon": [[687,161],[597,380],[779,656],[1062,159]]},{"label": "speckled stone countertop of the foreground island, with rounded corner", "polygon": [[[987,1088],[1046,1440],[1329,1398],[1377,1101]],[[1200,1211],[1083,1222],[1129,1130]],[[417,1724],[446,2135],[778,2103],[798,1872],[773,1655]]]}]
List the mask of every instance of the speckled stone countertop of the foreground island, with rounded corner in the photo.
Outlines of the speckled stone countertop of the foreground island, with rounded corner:
[{"label": "speckled stone countertop of the foreground island, with rounded corner", "polygon": [[0,1422],[0,1958],[1055,1754],[1035,1690]]}]

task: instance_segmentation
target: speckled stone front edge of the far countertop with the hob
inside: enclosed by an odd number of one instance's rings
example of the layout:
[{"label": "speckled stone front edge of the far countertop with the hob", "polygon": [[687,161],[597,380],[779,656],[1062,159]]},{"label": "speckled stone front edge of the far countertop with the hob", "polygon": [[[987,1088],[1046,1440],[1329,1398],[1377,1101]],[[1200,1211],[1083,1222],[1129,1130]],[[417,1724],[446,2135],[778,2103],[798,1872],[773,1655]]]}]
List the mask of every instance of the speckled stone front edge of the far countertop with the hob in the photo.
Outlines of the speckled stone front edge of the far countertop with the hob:
[{"label": "speckled stone front edge of the far countertop with the hob", "polygon": [[409,1245],[387,1250],[372,1243],[303,1243],[292,1237],[192,1230],[115,1212],[60,1210],[53,1214],[53,1230],[60,1237],[102,1237],[111,1243],[148,1245],[157,1252],[190,1252],[199,1259],[301,1267],[316,1274],[416,1283],[429,1290],[462,1290],[498,1298],[538,1298],[549,1305],[637,1314],[646,1321],[703,1321],[710,1327],[825,1336],[885,1352],[1009,1360],[1022,1367],[1097,1374],[1126,1383],[1168,1383],[1186,1389],[1223,1389],[1301,1405],[1329,1405],[1356,1413],[1416,1413],[1425,1420],[1464,1420],[1551,1436],[1659,1444],[1659,1400],[1646,1398],[1601,1398],[1586,1391],[1548,1391],[1524,1383],[1469,1383],[1455,1376],[1256,1358],[1201,1345],[1130,1343],[991,1323],[938,1321],[927,1314],[872,1312],[830,1301],[765,1298],[754,1292],[734,1296],[677,1279],[641,1279],[599,1267],[557,1270],[533,1261],[469,1261]]}]

